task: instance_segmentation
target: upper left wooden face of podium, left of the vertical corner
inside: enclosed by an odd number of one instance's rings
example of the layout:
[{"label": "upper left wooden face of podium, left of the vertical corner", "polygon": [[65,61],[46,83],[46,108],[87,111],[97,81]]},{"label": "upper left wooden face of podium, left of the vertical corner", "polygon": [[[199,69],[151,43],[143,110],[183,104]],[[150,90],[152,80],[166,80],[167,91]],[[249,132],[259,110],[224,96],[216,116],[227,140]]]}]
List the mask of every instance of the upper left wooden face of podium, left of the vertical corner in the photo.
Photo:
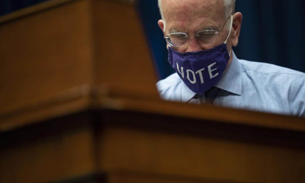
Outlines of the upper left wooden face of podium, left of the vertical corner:
[{"label": "upper left wooden face of podium, left of the vertical corner", "polygon": [[92,84],[89,7],[73,1],[0,25],[1,116]]}]

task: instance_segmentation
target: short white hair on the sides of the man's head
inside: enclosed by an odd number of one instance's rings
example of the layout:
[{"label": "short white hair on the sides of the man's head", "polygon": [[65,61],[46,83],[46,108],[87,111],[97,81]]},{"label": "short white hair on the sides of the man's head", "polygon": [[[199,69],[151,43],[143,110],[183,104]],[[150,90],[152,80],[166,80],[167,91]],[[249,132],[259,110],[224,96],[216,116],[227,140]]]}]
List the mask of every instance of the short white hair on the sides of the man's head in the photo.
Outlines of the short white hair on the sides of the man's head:
[{"label": "short white hair on the sides of the man's head", "polygon": [[[235,0],[223,0],[224,1],[224,17],[227,18],[235,12]],[[164,21],[163,31],[165,31],[165,17],[163,15],[162,0],[158,0],[158,6],[161,14],[161,18]],[[230,29],[230,22],[227,21],[227,27]]]}]

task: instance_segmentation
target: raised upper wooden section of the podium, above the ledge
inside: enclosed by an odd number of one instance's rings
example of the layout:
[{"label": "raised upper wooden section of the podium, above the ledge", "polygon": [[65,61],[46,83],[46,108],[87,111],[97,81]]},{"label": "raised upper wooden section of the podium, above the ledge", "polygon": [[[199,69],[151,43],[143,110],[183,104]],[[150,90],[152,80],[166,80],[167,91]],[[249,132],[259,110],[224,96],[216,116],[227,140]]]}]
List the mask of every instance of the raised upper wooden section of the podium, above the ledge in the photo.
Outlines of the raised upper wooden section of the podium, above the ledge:
[{"label": "raised upper wooden section of the podium, above the ledge", "polygon": [[[86,108],[95,90],[158,99],[132,4],[51,1],[21,11],[0,24],[0,130]],[[128,36],[118,36],[121,26]]]}]

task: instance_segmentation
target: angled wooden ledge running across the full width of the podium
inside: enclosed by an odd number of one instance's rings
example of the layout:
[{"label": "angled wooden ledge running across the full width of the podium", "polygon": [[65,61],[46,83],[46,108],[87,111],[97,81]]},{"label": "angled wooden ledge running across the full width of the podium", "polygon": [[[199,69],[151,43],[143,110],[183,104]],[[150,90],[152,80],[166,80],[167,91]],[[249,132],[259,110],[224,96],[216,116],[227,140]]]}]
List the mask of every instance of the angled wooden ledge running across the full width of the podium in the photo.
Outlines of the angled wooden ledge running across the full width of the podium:
[{"label": "angled wooden ledge running across the full width of the podium", "polygon": [[145,95],[142,98],[135,98],[131,94],[132,92],[129,95],[128,92],[125,92],[125,96],[113,95],[113,93],[117,92],[100,91],[89,85],[81,85],[43,100],[11,107],[4,113],[0,113],[0,121],[2,121],[0,132],[13,130],[35,123],[35,121],[88,109],[139,111],[227,124],[305,131],[305,120],[299,117],[169,102],[148,98]]}]

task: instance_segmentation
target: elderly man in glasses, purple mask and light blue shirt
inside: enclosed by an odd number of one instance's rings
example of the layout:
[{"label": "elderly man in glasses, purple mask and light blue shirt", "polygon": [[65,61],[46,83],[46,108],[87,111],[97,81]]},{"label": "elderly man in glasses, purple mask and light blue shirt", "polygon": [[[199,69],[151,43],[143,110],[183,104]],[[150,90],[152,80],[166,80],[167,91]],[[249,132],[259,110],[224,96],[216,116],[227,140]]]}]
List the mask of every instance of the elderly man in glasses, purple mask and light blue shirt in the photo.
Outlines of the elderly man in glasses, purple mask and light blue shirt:
[{"label": "elderly man in glasses, purple mask and light blue shirt", "polygon": [[305,116],[305,74],[238,59],[235,0],[159,0],[158,25],[176,70],[156,85],[165,100]]}]

